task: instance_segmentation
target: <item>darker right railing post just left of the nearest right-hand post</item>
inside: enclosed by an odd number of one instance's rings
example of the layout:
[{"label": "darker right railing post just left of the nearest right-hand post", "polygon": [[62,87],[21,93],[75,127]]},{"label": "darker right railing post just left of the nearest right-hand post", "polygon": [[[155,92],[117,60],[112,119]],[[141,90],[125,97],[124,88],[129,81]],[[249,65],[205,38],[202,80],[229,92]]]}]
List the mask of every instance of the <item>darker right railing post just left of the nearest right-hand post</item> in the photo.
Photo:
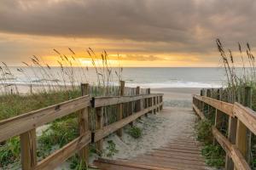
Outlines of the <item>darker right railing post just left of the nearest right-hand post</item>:
[{"label": "darker right railing post just left of the nearest right-hand post", "polygon": [[[228,102],[232,103],[232,99],[228,96]],[[237,118],[229,116],[229,127],[228,127],[228,139],[230,140],[231,144],[236,144],[236,127],[237,127]],[[225,158],[225,169],[233,170],[234,169],[234,162],[226,154]]]}]

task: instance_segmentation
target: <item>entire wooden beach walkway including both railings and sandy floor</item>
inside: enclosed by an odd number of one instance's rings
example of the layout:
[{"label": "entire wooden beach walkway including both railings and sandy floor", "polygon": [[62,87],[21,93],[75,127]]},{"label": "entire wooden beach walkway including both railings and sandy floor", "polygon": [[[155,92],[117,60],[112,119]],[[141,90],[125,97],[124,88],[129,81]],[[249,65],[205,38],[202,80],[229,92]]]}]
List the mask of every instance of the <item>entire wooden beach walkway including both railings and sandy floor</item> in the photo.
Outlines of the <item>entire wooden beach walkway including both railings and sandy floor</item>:
[{"label": "entire wooden beach walkway including both railings and sandy floor", "polygon": [[[148,140],[153,139],[149,143],[150,147],[147,148],[148,152],[143,153],[143,155],[131,156],[129,160],[99,159],[95,161],[96,165],[106,170],[209,169],[201,156],[201,147],[195,140],[192,126],[195,113],[201,119],[207,119],[207,116],[213,113],[215,121],[212,126],[212,135],[229,158],[225,159],[225,166],[230,168],[234,163],[236,169],[251,169],[247,156],[249,153],[247,151],[251,150],[251,144],[247,142],[251,141],[251,135],[247,135],[247,132],[256,134],[256,112],[250,109],[252,107],[253,88],[246,87],[244,89],[244,96],[241,98],[245,100],[244,105],[236,102],[234,104],[224,102],[222,99],[223,88],[217,89],[218,95],[214,95],[217,96],[216,99],[205,96],[205,94],[212,96],[212,88],[207,89],[207,91],[201,90],[201,96],[193,96],[193,110],[195,112],[184,108],[183,111],[177,111],[177,108],[176,110],[172,110],[174,108],[162,110],[164,94],[150,94],[149,88],[143,89],[143,94],[140,94],[142,91],[140,87],[131,88],[133,92],[136,92],[132,95],[125,95],[125,89],[125,82],[120,81],[119,95],[90,97],[89,84],[81,84],[82,94],[76,99],[2,120],[0,122],[0,143],[13,137],[20,138],[22,169],[55,169],[78,152],[81,161],[89,162],[89,144],[96,144],[96,150],[102,151],[103,139],[108,135],[118,132],[119,137],[122,137],[123,127],[135,122],[141,116],[160,111],[160,116],[170,116],[167,118],[171,119],[161,117],[168,122],[160,121],[166,123],[160,124],[164,125],[159,126],[161,128],[158,127],[160,131],[157,133],[150,131],[149,138],[144,138],[147,140],[146,147],[148,147]],[[228,96],[229,89],[226,89],[224,93],[227,94],[224,96]],[[104,116],[104,108],[109,108],[109,106],[118,114],[116,122],[105,125],[104,122],[108,122],[109,117]],[[91,111],[95,111],[96,116],[89,116]],[[43,160],[38,161],[37,147],[40,145],[37,144],[37,128],[73,113],[78,113],[76,115],[79,120],[79,136]],[[225,121],[222,120],[223,116],[229,117],[229,120],[226,121],[229,127],[227,132],[229,138],[218,131],[221,124],[219,122]],[[95,128],[89,125],[93,125]],[[159,130],[158,128],[155,129]],[[156,134],[161,134],[161,136]],[[142,150],[138,150],[137,154],[142,153],[139,151]]]}]

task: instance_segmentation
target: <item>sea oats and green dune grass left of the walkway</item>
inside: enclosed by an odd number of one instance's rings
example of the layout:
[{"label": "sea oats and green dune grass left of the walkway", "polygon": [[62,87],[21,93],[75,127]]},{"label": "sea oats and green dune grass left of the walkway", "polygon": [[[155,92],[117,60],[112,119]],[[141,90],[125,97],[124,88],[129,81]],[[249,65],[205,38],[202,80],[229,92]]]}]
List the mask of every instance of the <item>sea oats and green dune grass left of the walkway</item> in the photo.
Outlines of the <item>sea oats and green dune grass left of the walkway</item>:
[{"label": "sea oats and green dune grass left of the walkway", "polygon": [[[71,48],[69,51],[71,54],[65,55],[54,49],[54,52],[59,55],[57,67],[50,66],[44,59],[35,55],[32,56],[30,63],[22,62],[24,66],[17,68],[17,71],[28,80],[24,86],[30,87],[30,90],[26,94],[20,92],[19,85],[15,83],[19,77],[15,77],[9,66],[2,62],[0,65],[0,121],[78,98],[81,96],[80,83],[84,82],[90,83],[90,96],[119,95],[118,84],[122,80],[123,71],[120,58],[119,68],[113,69],[105,50],[97,55],[88,48],[87,54],[96,72],[96,82],[90,82],[88,65],[83,65]],[[113,114],[109,114],[108,108],[104,108],[104,117],[109,119],[108,122],[116,120]],[[94,120],[94,111],[91,111],[90,120],[92,122]],[[50,122],[46,126],[47,128],[37,138],[38,161],[79,136],[77,113]],[[91,122],[90,129],[94,129]],[[116,151],[114,146],[112,143],[108,146],[110,156]],[[90,152],[94,152],[93,148],[94,146],[90,145]],[[72,156],[69,161],[73,169],[84,169],[84,162],[80,162],[78,156]],[[0,143],[0,168],[15,162],[20,162],[19,137]]]}]

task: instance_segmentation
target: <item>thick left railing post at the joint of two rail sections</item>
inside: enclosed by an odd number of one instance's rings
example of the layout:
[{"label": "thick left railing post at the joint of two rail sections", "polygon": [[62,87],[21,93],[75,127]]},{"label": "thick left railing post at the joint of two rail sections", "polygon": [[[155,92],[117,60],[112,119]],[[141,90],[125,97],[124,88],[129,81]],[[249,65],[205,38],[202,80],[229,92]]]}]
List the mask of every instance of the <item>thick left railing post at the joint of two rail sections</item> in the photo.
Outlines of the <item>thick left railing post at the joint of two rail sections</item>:
[{"label": "thick left railing post at the joint of two rail sections", "polygon": [[[82,96],[90,94],[90,87],[89,83],[82,83],[81,84],[81,92]],[[89,111],[88,107],[82,109],[79,111],[79,134],[82,135],[83,133],[87,133],[89,131]],[[85,163],[85,165],[88,164],[89,159],[89,146],[84,146],[83,149],[79,150],[79,156],[80,160]]]}]

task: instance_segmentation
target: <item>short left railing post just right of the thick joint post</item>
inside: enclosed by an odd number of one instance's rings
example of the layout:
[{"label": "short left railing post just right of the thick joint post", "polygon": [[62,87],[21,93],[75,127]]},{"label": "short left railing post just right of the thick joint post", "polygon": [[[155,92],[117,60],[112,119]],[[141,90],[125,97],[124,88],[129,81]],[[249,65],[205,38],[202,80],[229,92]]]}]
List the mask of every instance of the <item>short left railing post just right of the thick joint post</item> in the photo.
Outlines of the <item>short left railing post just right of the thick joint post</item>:
[{"label": "short left railing post just right of the thick joint post", "polygon": [[[96,130],[101,129],[104,125],[103,122],[103,107],[96,108]],[[96,142],[96,151],[102,152],[103,139]]]}]

